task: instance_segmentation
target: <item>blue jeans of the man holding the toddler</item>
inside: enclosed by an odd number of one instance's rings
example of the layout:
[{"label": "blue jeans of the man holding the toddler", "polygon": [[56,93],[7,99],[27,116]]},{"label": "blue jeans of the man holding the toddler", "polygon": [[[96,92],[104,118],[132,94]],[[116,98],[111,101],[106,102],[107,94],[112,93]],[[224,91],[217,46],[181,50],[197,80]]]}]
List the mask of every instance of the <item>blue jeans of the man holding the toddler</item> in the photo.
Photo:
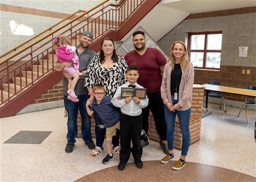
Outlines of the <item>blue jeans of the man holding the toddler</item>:
[{"label": "blue jeans of the man holding the toddler", "polygon": [[89,98],[89,95],[78,95],[78,102],[73,102],[68,99],[67,96],[63,96],[64,105],[68,112],[68,134],[67,139],[68,143],[75,143],[77,136],[77,114],[78,109],[80,111],[82,125],[82,139],[84,142],[92,141],[91,133],[91,120],[86,111],[86,101]]}]

